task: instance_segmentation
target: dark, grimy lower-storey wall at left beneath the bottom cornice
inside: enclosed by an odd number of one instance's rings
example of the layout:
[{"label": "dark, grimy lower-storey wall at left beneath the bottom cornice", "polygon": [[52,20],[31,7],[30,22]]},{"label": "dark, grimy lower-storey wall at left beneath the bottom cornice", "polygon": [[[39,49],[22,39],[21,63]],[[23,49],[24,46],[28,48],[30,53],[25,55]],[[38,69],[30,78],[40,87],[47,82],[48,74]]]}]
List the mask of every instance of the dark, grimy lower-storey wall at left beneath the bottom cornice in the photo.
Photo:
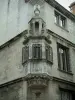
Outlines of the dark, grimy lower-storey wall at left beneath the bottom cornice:
[{"label": "dark, grimy lower-storey wall at left beneath the bottom cornice", "polygon": [[22,81],[1,87],[0,100],[27,100],[27,83]]}]

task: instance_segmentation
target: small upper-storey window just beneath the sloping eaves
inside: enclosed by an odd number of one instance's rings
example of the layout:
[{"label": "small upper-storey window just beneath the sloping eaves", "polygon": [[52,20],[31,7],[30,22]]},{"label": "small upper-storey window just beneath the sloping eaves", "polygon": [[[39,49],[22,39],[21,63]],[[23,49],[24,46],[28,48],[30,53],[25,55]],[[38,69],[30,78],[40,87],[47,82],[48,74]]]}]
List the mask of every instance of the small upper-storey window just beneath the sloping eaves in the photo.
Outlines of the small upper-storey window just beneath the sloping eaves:
[{"label": "small upper-storey window just beneath the sloping eaves", "polygon": [[62,28],[66,28],[66,18],[60,13],[55,11],[55,23]]}]

